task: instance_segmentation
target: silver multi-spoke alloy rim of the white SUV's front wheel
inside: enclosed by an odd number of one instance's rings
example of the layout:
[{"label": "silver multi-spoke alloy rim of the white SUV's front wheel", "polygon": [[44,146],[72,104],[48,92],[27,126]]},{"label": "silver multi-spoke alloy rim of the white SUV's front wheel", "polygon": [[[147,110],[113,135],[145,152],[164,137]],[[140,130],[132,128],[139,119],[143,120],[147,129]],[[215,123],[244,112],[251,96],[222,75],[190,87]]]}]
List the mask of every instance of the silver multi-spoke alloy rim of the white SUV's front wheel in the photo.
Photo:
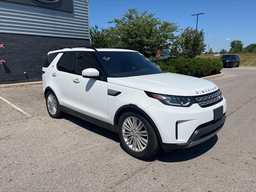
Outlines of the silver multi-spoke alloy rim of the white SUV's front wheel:
[{"label": "silver multi-spoke alloy rim of the white SUV's front wheel", "polygon": [[136,117],[128,117],[122,124],[122,136],[126,145],[135,152],[143,151],[148,144],[148,132]]}]

